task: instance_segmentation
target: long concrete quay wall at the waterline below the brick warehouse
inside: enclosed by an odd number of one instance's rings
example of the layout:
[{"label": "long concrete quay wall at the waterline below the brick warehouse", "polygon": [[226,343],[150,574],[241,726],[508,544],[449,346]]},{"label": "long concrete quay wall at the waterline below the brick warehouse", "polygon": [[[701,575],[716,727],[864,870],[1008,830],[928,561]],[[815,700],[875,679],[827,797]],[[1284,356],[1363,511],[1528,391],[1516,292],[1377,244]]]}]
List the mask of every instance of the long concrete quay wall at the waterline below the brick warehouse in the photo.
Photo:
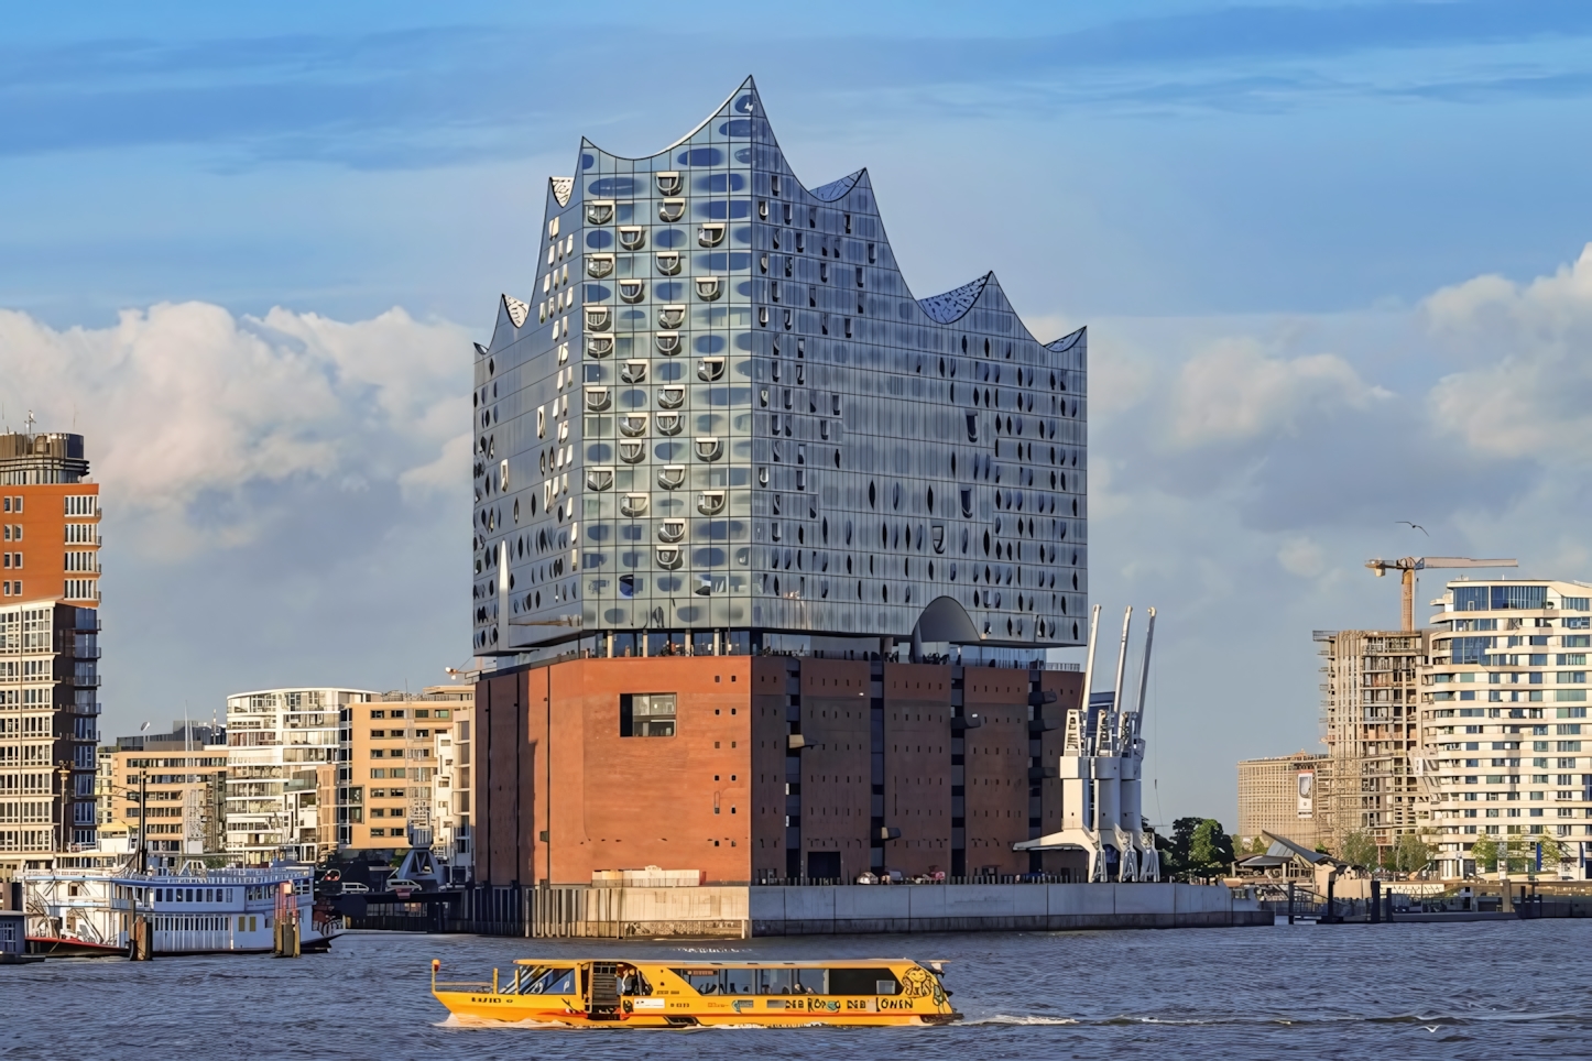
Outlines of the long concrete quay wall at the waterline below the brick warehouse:
[{"label": "long concrete quay wall at the waterline below the brick warehouse", "polygon": [[841,884],[554,889],[535,935],[743,939],[1272,924],[1207,884]]}]

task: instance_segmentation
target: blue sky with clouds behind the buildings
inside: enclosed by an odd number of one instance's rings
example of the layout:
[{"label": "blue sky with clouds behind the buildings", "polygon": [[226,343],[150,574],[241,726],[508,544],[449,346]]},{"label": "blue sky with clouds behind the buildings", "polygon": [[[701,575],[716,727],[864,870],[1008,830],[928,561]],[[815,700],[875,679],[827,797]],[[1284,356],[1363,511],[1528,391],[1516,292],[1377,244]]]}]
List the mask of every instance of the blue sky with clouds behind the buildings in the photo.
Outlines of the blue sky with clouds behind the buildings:
[{"label": "blue sky with clouds behind the buildings", "polygon": [[751,73],[917,294],[1091,325],[1094,597],[1161,608],[1165,816],[1231,819],[1226,764],[1315,740],[1310,630],[1396,616],[1366,557],[1592,577],[1589,45],[1530,0],[8,11],[0,404],[100,455],[105,729],[463,662],[455,394],[543,181]]}]

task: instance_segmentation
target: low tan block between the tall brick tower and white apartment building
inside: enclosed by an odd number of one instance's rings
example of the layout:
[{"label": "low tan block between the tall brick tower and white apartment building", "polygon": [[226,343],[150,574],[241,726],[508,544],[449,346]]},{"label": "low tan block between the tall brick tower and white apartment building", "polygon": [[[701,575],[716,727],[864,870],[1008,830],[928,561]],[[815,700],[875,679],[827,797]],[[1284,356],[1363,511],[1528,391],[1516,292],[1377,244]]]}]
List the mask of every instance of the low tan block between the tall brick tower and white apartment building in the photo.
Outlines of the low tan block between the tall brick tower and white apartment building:
[{"label": "low tan block between the tall brick tower and white apartment building", "polygon": [[150,865],[226,846],[226,729],[174,722],[99,749],[103,851],[146,851]]}]

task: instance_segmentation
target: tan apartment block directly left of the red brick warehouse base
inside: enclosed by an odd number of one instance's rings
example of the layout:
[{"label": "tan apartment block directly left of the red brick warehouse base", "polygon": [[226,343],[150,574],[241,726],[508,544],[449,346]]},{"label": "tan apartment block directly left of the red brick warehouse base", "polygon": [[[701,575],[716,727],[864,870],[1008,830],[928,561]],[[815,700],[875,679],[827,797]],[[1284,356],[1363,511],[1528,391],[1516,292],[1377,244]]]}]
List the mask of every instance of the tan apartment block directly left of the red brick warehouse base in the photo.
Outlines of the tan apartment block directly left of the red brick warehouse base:
[{"label": "tan apartment block directly left of the red brick warehouse base", "polygon": [[[455,783],[468,781],[473,705],[473,687],[430,686],[420,694],[373,695],[352,708],[339,846],[404,849],[419,830],[433,846],[463,835],[468,848],[468,797],[460,806],[452,792]],[[455,740],[463,741],[463,752]]]}]

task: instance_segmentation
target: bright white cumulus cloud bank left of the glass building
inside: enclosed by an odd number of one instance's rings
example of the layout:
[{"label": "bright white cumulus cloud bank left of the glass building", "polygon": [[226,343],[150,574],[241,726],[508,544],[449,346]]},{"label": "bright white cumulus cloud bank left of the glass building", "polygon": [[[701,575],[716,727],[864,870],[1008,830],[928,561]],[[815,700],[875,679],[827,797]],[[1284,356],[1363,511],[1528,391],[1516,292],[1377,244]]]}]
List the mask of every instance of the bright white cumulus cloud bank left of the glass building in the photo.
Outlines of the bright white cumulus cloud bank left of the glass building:
[{"label": "bright white cumulus cloud bank left of the glass building", "polygon": [[[56,331],[0,312],[0,380],[11,428],[86,436],[113,512],[140,544],[194,547],[194,509],[224,501],[204,539],[253,533],[252,490],[299,477],[344,488],[438,487],[422,469],[468,423],[468,336],[401,309],[341,323],[274,309],[234,317],[202,302],[126,310],[110,328]],[[466,442],[468,445],[468,442]],[[458,485],[463,487],[460,464]]]}]

